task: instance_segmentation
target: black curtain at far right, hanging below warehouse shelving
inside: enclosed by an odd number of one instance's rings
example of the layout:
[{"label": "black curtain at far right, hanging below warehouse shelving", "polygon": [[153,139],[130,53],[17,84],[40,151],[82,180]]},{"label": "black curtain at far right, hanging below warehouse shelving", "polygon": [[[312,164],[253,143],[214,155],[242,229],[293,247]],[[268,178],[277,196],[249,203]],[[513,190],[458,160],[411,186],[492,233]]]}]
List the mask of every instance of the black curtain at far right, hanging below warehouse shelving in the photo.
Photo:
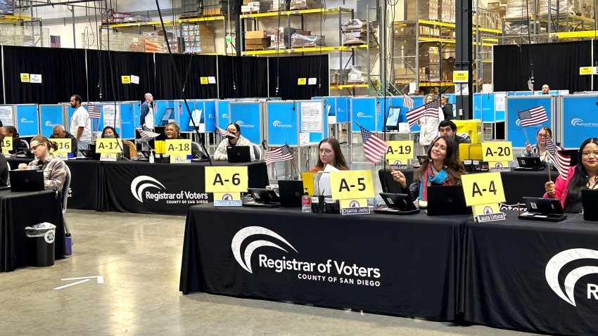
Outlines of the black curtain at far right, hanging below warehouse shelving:
[{"label": "black curtain at far right, hanging below warehouse shelving", "polygon": [[[597,49],[598,50],[598,49]],[[592,42],[575,41],[549,44],[494,47],[494,90],[526,91],[533,61],[534,90],[548,84],[551,89],[590,91],[591,77],[580,76],[580,67],[592,65]]]}]

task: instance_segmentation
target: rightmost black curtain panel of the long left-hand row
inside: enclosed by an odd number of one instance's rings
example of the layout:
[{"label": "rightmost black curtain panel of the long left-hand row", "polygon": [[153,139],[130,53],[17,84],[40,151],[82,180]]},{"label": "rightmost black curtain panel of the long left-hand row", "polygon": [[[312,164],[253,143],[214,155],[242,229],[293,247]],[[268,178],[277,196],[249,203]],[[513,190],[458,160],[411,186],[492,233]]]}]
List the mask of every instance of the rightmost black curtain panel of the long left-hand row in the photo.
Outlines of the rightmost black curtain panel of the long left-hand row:
[{"label": "rightmost black curtain panel of the long left-hand row", "polygon": [[[283,100],[328,96],[328,55],[268,58],[268,61],[270,96],[276,96],[276,69],[279,76],[278,96]],[[317,78],[317,84],[298,85],[299,78]]]}]

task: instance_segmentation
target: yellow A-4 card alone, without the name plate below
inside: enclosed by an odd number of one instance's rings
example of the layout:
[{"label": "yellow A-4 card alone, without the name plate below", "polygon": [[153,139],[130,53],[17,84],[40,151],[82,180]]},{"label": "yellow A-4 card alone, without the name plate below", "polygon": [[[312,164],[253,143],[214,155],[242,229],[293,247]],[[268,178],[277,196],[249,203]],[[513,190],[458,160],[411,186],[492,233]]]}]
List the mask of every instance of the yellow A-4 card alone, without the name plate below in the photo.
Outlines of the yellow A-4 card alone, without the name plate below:
[{"label": "yellow A-4 card alone, without the name plate below", "polygon": [[504,202],[500,173],[468,174],[461,176],[467,205]]}]

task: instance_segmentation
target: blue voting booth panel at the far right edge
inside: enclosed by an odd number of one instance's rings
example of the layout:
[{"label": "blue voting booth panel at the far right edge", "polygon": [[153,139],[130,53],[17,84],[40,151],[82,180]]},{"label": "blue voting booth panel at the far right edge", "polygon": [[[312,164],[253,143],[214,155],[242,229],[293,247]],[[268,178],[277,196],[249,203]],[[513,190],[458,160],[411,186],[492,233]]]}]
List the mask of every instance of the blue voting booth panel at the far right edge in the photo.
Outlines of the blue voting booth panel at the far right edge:
[{"label": "blue voting booth panel at the far right edge", "polygon": [[598,136],[598,105],[594,95],[560,96],[559,137],[564,148],[577,149],[587,138]]}]

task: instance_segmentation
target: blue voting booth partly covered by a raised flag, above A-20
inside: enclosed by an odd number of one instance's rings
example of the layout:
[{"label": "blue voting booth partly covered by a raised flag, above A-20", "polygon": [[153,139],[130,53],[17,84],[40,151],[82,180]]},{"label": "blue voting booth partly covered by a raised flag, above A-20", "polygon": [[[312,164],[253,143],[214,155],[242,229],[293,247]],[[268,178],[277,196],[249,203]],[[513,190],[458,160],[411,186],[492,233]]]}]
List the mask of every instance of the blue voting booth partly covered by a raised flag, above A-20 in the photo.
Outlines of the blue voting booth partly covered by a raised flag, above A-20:
[{"label": "blue voting booth partly covered by a raised flag, above A-20", "polygon": [[[518,111],[528,110],[542,106],[547,113],[548,121],[535,126],[521,127]],[[526,145],[526,134],[531,144],[536,143],[535,134],[540,127],[547,126],[552,129],[552,136],[556,138],[556,97],[554,96],[507,96],[507,127],[505,127],[505,137],[511,141],[513,148],[523,148]],[[525,134],[523,133],[525,131]]]}]

